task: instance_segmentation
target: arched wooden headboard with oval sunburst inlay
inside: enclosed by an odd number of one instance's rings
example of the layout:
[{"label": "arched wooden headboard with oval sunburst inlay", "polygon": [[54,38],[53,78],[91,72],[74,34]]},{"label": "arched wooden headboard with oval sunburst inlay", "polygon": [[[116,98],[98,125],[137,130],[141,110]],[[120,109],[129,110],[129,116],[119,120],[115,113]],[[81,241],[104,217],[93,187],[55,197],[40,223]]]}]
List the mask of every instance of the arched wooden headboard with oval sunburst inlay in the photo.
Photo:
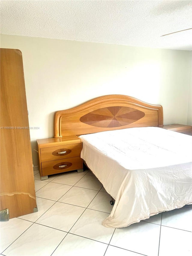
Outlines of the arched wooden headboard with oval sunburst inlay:
[{"label": "arched wooden headboard with oval sunburst inlay", "polygon": [[54,138],[131,127],[163,125],[163,107],[126,95],[106,95],[56,111]]}]

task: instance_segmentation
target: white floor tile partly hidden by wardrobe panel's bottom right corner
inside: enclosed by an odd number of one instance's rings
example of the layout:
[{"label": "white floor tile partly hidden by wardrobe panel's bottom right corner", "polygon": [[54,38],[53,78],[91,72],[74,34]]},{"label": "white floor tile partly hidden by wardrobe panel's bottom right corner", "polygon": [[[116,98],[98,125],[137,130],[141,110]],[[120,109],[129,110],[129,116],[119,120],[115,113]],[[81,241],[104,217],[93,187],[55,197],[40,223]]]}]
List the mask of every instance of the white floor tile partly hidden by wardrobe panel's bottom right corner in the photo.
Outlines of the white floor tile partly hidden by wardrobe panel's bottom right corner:
[{"label": "white floor tile partly hidden by wardrobe panel's bottom right corner", "polygon": [[55,201],[36,197],[38,212],[33,212],[27,215],[20,216],[19,218],[35,222],[41,217],[54,203]]}]

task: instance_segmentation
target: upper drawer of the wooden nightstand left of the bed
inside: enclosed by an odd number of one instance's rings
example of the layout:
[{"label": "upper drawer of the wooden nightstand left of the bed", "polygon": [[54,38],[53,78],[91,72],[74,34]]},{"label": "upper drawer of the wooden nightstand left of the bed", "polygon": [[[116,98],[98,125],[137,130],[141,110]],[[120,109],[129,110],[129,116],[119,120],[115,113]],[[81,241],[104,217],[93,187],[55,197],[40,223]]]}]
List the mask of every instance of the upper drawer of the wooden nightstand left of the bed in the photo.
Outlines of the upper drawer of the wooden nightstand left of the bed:
[{"label": "upper drawer of the wooden nightstand left of the bed", "polygon": [[41,162],[80,156],[81,144],[62,145],[40,149]]}]

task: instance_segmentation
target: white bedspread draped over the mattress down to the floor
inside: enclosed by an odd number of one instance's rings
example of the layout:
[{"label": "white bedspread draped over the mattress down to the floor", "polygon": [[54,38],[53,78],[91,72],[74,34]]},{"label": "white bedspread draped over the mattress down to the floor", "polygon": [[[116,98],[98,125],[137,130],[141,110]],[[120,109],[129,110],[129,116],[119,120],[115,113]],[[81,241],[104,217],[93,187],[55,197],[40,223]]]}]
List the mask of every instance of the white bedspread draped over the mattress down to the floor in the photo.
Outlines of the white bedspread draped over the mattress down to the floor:
[{"label": "white bedspread draped over the mattress down to the floor", "polygon": [[116,200],[104,226],[192,204],[192,136],[145,127],[79,137],[81,158]]}]

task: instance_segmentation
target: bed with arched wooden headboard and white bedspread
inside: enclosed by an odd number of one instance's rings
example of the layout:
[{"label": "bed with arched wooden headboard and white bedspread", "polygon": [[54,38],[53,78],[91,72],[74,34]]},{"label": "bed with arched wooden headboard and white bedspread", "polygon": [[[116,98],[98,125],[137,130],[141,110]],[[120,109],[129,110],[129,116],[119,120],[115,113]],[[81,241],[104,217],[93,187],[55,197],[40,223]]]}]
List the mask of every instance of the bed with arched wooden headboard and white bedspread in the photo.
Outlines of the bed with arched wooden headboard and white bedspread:
[{"label": "bed with arched wooden headboard and white bedspread", "polygon": [[81,157],[115,199],[106,227],[192,204],[192,137],[162,129],[163,108],[106,95],[55,112],[54,137],[76,135]]}]

